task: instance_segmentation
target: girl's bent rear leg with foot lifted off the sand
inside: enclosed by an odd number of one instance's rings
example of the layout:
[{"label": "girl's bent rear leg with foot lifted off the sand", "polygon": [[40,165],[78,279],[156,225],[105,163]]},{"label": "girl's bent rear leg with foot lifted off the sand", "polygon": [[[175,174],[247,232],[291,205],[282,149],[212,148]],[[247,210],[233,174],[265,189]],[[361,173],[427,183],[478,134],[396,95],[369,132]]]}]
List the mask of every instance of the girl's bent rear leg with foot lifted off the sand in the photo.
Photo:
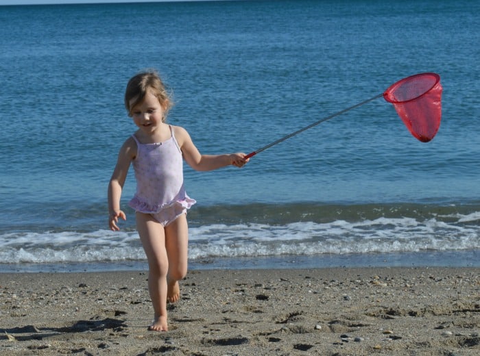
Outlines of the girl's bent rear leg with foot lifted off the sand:
[{"label": "girl's bent rear leg with foot lifted off the sand", "polygon": [[167,302],[180,299],[178,281],[187,275],[189,226],[187,214],[182,214],[165,227],[165,247],[169,260]]}]

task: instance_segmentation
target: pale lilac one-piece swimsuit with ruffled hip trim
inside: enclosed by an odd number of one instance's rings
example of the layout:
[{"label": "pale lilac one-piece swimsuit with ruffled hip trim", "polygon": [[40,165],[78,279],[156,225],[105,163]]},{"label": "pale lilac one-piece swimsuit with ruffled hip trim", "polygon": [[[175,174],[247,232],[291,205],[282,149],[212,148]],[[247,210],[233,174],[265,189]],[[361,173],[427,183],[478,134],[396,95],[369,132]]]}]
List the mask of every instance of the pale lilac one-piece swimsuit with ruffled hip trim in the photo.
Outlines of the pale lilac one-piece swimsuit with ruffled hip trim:
[{"label": "pale lilac one-piece swimsuit with ruffled hip trim", "polygon": [[133,167],[136,193],[128,203],[136,212],[152,214],[163,226],[196,203],[185,192],[183,184],[182,151],[170,127],[171,138],[165,142],[142,144],[136,142]]}]

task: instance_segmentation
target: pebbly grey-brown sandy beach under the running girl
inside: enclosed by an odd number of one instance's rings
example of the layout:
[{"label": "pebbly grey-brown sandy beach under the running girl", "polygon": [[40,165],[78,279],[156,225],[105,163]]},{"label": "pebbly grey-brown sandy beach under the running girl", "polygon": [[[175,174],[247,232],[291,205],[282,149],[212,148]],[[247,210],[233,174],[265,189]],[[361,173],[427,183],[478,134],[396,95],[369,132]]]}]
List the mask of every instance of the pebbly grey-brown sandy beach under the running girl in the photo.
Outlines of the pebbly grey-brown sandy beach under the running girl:
[{"label": "pebbly grey-brown sandy beach under the running girl", "polygon": [[480,355],[479,268],[0,273],[1,355]]}]

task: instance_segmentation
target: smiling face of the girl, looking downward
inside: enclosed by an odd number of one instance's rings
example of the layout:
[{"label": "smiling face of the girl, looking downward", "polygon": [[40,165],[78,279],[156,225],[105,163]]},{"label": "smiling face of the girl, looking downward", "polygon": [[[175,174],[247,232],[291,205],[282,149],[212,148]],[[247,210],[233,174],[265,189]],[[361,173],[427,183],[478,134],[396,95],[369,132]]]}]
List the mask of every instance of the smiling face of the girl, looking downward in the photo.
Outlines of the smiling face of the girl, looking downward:
[{"label": "smiling face of the girl, looking downward", "polygon": [[[130,102],[133,103],[134,99]],[[132,107],[131,112],[135,125],[145,133],[152,133],[163,123],[163,107],[151,91],[147,92],[141,103]]]}]

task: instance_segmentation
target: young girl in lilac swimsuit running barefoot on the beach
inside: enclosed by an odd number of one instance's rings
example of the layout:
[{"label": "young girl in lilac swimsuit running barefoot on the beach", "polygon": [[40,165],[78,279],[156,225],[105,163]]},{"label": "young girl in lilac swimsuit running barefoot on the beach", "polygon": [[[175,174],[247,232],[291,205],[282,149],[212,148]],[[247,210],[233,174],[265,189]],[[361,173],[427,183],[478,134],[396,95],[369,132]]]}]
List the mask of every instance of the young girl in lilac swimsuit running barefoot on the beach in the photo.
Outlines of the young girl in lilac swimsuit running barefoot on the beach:
[{"label": "young girl in lilac swimsuit running barefoot on the beach", "polygon": [[178,281],[187,274],[187,209],[195,200],[185,192],[183,162],[195,170],[214,170],[230,164],[241,167],[243,153],[202,155],[182,127],[167,125],[171,101],[154,71],[135,75],[125,90],[125,107],[139,128],[120,149],[108,185],[109,225],[118,231],[120,196],[130,163],[134,166],[136,194],[129,205],[147,255],[148,290],[154,306],[150,330],[167,331],[167,302],[180,298]]}]

